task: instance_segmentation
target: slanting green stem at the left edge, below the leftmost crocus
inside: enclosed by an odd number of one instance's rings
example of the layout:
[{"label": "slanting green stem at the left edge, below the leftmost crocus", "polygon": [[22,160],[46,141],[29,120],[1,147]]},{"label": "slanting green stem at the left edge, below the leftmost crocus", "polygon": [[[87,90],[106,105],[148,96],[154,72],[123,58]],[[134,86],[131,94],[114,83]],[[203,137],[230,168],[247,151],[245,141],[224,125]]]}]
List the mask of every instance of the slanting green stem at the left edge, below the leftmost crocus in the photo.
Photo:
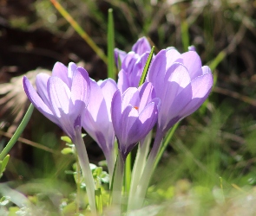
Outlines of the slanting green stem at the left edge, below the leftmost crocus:
[{"label": "slanting green stem at the left edge, below the leftmost crocus", "polygon": [[30,121],[30,118],[31,118],[33,110],[34,110],[34,106],[32,104],[30,104],[30,107],[29,107],[28,111],[26,112],[26,114],[25,114],[25,116],[23,118],[23,121],[21,122],[21,124],[16,129],[16,132],[11,137],[9,143],[7,143],[7,145],[5,146],[3,151],[0,153],[0,161],[2,161],[3,158],[8,155],[8,153],[10,152],[10,149],[12,149],[12,147],[16,143],[17,139],[23,133],[23,130],[25,129],[25,127],[27,126],[27,124]]}]

